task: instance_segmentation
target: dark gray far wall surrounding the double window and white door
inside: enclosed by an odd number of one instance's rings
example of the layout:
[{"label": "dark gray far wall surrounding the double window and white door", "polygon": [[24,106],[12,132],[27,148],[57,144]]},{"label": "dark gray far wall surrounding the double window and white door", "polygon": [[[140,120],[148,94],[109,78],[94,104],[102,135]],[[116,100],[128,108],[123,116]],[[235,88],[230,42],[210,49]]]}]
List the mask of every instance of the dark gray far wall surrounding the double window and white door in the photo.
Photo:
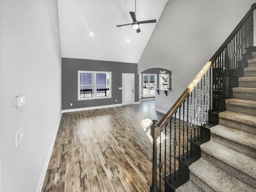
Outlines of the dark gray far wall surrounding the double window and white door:
[{"label": "dark gray far wall surrounding the double window and white door", "polygon": [[[112,97],[78,101],[78,71],[112,72]],[[122,104],[122,90],[118,89],[122,87],[122,73],[134,73],[134,101],[138,102],[139,75],[137,63],[62,58],[62,110]]]}]

